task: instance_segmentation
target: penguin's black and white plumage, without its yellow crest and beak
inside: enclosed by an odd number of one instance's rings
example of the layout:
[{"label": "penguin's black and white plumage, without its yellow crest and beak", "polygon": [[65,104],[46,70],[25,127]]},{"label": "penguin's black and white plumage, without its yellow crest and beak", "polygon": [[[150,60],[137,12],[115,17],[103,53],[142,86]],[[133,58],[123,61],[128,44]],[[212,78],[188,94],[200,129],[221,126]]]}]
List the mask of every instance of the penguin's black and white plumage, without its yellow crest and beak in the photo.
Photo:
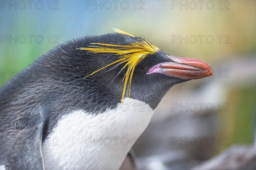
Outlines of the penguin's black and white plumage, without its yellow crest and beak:
[{"label": "penguin's black and white plumage, without its yellow crest and beak", "polygon": [[[159,63],[176,63],[163,51],[156,51],[137,63],[128,93],[123,89],[125,63],[99,70],[120,55],[76,48],[91,43],[134,45],[137,41],[122,32],[76,39],[58,45],[29,65],[25,76],[15,75],[3,85],[1,168],[118,169],[163,96],[188,79],[166,76],[166,69],[163,74],[149,73],[152,68],[152,73],[162,71]],[[141,39],[139,43],[152,47]],[[120,144],[121,139],[128,144]]]}]

